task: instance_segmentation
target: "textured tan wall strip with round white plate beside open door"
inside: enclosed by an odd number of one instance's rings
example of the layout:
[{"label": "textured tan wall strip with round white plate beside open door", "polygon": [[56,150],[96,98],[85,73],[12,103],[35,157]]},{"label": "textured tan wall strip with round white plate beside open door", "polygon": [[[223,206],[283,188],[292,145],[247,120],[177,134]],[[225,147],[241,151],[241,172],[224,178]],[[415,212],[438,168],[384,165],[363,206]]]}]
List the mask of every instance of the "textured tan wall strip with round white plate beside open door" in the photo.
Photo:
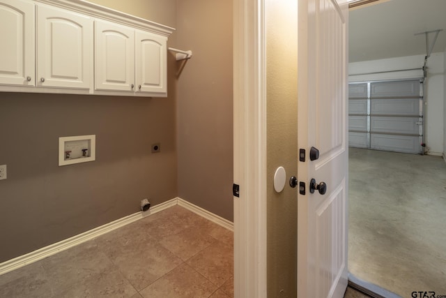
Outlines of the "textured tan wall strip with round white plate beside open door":
[{"label": "textured tan wall strip with round white plate beside open door", "polygon": [[[297,192],[288,179],[298,172],[297,3],[266,1],[267,53],[267,278],[268,297],[296,297]],[[286,170],[284,191],[273,177]]]}]

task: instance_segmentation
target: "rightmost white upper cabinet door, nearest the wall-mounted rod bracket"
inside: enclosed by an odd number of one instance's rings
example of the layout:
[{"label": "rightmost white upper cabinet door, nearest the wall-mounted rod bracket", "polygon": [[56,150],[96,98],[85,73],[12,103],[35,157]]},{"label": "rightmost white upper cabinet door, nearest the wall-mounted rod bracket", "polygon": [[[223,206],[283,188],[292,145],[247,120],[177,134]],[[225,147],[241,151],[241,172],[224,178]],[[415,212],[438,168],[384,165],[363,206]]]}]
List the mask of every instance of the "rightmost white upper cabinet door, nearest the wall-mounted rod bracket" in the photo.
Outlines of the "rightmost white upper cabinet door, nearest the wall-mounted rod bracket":
[{"label": "rightmost white upper cabinet door, nearest the wall-mounted rod bracket", "polygon": [[167,92],[167,38],[153,33],[136,33],[137,91]]}]

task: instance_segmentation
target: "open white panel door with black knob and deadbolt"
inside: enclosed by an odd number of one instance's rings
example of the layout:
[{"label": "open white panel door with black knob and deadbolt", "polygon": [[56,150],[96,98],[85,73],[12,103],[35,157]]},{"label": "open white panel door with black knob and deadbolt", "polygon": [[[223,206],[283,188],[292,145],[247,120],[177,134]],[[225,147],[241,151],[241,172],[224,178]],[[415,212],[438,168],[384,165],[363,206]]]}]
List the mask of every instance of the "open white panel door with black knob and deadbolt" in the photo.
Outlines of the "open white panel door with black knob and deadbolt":
[{"label": "open white panel door with black knob and deadbolt", "polygon": [[[347,29],[346,0],[299,1],[298,297],[344,297],[347,286]],[[311,179],[326,193],[311,193]]]}]

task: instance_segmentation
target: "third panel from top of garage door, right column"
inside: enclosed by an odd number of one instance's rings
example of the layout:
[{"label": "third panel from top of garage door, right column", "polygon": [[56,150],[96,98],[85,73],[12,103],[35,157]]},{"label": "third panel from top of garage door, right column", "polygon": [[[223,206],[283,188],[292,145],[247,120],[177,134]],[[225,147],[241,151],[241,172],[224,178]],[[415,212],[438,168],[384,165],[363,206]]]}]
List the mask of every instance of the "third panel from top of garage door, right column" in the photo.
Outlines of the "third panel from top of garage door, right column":
[{"label": "third panel from top of garage door, right column", "polygon": [[392,133],[401,135],[419,135],[420,126],[415,117],[371,117],[370,131],[372,133]]}]

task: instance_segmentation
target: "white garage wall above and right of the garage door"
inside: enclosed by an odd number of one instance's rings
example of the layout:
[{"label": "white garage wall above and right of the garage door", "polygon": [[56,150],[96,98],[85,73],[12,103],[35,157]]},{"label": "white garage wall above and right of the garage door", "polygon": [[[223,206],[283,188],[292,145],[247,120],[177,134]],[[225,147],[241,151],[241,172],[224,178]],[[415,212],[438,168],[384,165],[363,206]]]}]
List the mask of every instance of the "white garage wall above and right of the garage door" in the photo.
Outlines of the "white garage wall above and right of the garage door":
[{"label": "white garage wall above and right of the garage door", "polygon": [[[422,76],[421,70],[392,72],[409,68],[421,68],[424,55],[353,62],[348,65],[349,82],[364,80],[397,80]],[[425,135],[428,154],[442,155],[445,151],[445,53],[433,53],[428,60],[428,75],[425,93]],[[357,75],[361,73],[378,73],[374,75]]]}]

